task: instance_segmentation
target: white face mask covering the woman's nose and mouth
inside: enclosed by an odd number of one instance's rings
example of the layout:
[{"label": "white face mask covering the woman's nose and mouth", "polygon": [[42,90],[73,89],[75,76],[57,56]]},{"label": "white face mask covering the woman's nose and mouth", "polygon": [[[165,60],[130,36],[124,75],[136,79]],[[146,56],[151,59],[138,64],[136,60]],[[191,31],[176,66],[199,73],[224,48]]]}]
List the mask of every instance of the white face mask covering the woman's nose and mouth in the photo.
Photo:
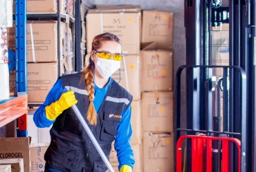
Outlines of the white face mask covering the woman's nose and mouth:
[{"label": "white face mask covering the woman's nose and mouth", "polygon": [[103,78],[109,78],[117,69],[120,68],[121,61],[98,58],[96,69]]}]

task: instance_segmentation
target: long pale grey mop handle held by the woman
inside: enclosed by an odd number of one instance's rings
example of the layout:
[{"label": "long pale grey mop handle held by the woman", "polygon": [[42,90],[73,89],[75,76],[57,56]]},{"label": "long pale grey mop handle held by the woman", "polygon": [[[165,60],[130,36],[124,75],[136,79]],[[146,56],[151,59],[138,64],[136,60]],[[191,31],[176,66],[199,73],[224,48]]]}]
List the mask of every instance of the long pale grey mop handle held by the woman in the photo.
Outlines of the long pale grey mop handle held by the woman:
[{"label": "long pale grey mop handle held by the woman", "polygon": [[79,111],[79,109],[77,108],[76,105],[73,105],[72,107],[73,111],[75,111],[75,115],[77,116],[78,120],[80,120],[82,126],[84,127],[86,133],[88,134],[89,138],[91,139],[91,141],[93,142],[93,145],[95,146],[95,148],[97,149],[98,153],[100,154],[100,157],[102,158],[102,160],[104,161],[104,163],[107,166],[107,169],[109,169],[109,172],[115,172],[113,170],[113,167],[111,166],[111,164],[109,163],[109,160],[107,159],[106,155],[104,154],[104,152],[102,151],[100,144],[97,142],[97,140],[95,139],[95,137],[93,136],[93,133],[91,133],[91,129],[89,128],[89,126],[86,124],[86,122],[84,121],[84,118],[82,117],[81,112]]}]

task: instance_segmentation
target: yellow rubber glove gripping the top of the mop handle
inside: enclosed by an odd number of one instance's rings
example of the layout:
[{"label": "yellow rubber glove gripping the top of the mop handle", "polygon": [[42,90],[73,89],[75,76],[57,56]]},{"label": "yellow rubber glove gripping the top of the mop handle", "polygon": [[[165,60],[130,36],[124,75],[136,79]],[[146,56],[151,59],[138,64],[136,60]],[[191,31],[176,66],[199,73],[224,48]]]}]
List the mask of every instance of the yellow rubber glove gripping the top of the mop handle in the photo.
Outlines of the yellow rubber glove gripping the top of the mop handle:
[{"label": "yellow rubber glove gripping the top of the mop handle", "polygon": [[62,114],[62,111],[68,109],[68,107],[71,107],[76,103],[77,100],[75,99],[74,92],[65,92],[55,103],[46,106],[46,118],[48,118],[48,120],[55,120],[57,116]]}]

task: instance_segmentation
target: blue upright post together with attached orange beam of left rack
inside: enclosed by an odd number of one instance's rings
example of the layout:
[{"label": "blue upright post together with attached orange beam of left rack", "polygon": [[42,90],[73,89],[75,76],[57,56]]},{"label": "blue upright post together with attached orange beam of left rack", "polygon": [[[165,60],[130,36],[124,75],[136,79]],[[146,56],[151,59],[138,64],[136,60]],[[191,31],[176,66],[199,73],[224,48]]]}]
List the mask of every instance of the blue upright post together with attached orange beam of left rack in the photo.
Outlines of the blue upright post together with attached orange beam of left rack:
[{"label": "blue upright post together with attached orange beam of left rack", "polygon": [[28,136],[26,0],[15,1],[16,87],[18,96],[0,101],[0,127],[18,118],[17,136]]}]

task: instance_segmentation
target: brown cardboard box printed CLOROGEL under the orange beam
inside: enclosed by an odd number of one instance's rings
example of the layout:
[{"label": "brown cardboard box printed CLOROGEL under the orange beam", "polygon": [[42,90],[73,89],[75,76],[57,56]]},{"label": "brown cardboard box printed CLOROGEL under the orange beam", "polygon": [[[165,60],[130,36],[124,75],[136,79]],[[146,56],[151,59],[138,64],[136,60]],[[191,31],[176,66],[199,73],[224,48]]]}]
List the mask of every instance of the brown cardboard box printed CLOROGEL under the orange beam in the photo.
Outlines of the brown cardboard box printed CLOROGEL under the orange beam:
[{"label": "brown cardboard box printed CLOROGEL under the orange beam", "polygon": [[24,171],[30,171],[30,138],[0,138],[0,159],[23,158]]}]

